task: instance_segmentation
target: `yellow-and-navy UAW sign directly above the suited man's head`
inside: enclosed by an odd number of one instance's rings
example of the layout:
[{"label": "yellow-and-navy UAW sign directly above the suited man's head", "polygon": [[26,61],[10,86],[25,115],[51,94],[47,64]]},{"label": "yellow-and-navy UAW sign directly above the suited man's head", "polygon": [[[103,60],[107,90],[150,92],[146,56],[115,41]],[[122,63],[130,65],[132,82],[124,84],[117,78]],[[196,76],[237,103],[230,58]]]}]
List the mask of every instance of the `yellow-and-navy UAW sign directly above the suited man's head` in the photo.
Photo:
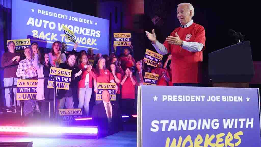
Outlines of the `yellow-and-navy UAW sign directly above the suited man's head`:
[{"label": "yellow-and-navy UAW sign directly above the suited man's head", "polygon": [[107,89],[110,93],[111,100],[116,100],[116,83],[97,83],[98,92],[96,93],[96,100],[102,99],[102,91]]}]

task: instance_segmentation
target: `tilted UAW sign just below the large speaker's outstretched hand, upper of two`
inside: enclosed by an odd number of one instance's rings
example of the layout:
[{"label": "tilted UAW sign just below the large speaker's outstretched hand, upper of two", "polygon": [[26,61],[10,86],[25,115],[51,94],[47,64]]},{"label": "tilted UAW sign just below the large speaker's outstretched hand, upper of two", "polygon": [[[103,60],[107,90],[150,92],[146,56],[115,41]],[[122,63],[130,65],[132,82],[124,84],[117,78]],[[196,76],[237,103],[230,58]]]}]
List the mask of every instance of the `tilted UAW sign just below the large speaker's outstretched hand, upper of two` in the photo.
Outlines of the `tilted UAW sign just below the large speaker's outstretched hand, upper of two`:
[{"label": "tilted UAW sign just below the large speaker's outstretched hand, upper of two", "polygon": [[144,59],[147,65],[157,67],[157,62],[162,60],[163,55],[155,53],[149,49],[146,49]]}]

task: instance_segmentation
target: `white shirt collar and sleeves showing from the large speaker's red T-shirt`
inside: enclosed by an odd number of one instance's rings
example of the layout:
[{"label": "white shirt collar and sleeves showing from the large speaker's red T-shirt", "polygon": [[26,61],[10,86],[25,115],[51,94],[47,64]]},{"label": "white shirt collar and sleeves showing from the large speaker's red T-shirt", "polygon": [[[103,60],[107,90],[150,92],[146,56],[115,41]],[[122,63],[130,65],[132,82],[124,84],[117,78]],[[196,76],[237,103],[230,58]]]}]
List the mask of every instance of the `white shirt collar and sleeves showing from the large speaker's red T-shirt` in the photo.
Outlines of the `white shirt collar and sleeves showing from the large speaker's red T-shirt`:
[{"label": "white shirt collar and sleeves showing from the large speaker's red T-shirt", "polygon": [[[189,27],[193,24],[193,20],[189,21],[186,25],[180,25],[181,28]],[[178,34],[179,35],[179,34]],[[153,47],[157,50],[159,54],[165,55],[168,54],[168,49],[165,46],[156,40],[155,44],[152,44]],[[204,45],[199,42],[187,42],[183,41],[183,49],[188,50],[189,52],[200,52],[203,49]]]}]

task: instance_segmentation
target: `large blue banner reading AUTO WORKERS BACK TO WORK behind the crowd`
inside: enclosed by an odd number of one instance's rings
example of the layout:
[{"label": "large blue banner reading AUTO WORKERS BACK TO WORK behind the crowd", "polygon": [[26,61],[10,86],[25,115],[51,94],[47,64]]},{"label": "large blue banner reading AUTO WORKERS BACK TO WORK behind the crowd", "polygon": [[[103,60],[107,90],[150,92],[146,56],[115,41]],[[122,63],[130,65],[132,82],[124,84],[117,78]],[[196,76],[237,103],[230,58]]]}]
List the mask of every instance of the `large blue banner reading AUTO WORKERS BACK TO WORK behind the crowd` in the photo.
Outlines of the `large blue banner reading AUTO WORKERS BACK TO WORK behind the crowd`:
[{"label": "large blue banner reading AUTO WORKERS BACK TO WORK behind the crowd", "polygon": [[66,39],[62,25],[75,34],[78,51],[91,47],[95,54],[109,53],[109,20],[12,0],[12,39],[30,35],[46,40],[47,48],[51,48],[54,41],[61,41],[67,43],[68,50],[72,50],[74,43]]}]

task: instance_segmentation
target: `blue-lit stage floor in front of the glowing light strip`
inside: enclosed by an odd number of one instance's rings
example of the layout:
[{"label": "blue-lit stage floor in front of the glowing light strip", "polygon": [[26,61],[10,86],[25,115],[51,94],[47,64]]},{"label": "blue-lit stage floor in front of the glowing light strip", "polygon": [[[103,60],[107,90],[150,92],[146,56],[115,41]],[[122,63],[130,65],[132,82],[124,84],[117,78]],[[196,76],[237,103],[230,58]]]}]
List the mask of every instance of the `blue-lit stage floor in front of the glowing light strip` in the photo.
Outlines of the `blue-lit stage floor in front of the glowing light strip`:
[{"label": "blue-lit stage floor in front of the glowing light strip", "polygon": [[33,147],[98,147],[98,146],[136,146],[137,132],[121,131],[99,139],[38,138],[0,135],[0,142],[33,142]]}]

